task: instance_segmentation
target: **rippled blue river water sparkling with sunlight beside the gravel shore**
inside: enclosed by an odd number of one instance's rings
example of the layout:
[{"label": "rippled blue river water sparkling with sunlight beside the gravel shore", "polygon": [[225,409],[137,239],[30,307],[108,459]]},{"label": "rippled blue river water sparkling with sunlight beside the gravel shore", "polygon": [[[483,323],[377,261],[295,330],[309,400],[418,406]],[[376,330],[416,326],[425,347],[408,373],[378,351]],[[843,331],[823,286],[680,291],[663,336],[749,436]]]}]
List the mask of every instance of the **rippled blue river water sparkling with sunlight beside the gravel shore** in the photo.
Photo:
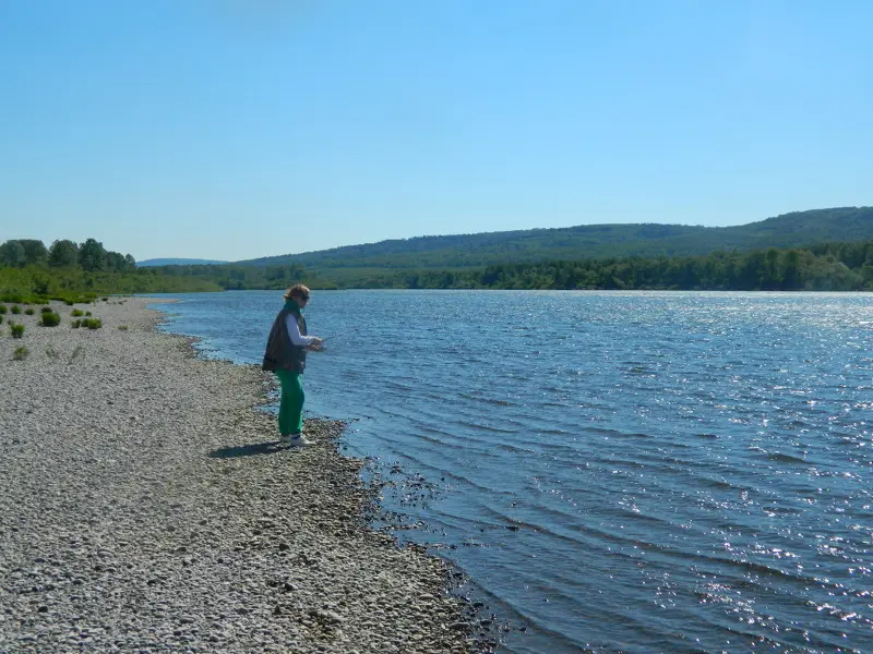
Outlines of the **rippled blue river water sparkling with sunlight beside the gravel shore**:
[{"label": "rippled blue river water sparkling with sunlight beside the gravel shore", "polygon": [[[179,298],[170,330],[260,363],[280,293]],[[339,335],[308,408],[359,419],[349,452],[407,482],[404,535],[513,620],[503,652],[873,652],[873,295],[343,291],[306,313]]]}]

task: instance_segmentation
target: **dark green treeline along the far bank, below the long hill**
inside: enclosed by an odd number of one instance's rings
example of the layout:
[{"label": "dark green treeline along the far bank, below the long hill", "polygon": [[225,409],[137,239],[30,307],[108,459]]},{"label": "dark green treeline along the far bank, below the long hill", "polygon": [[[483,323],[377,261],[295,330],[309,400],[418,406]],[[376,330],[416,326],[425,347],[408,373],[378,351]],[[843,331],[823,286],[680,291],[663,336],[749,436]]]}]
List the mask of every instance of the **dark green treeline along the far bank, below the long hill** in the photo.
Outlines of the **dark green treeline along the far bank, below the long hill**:
[{"label": "dark green treeline along the far bank, below the long hill", "polygon": [[605,289],[722,291],[873,290],[873,241],[810,250],[715,252],[690,257],[624,257],[419,270],[346,277],[346,288]]}]

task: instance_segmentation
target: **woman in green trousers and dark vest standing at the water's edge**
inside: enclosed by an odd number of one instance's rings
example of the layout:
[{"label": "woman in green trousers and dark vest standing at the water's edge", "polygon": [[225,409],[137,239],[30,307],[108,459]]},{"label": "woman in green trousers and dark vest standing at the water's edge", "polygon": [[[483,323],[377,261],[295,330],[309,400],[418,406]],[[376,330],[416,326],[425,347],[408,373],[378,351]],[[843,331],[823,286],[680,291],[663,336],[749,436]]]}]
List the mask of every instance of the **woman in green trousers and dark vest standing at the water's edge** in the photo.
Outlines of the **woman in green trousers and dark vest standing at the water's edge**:
[{"label": "woman in green trousers and dark vest standing at the water's edge", "polygon": [[285,292],[285,306],[276,316],[266,341],[265,371],[273,371],[282,384],[279,440],[292,447],[311,445],[303,436],[303,370],[307,351],[321,350],[322,339],[307,336],[302,308],[309,302],[309,289],[302,283]]}]

